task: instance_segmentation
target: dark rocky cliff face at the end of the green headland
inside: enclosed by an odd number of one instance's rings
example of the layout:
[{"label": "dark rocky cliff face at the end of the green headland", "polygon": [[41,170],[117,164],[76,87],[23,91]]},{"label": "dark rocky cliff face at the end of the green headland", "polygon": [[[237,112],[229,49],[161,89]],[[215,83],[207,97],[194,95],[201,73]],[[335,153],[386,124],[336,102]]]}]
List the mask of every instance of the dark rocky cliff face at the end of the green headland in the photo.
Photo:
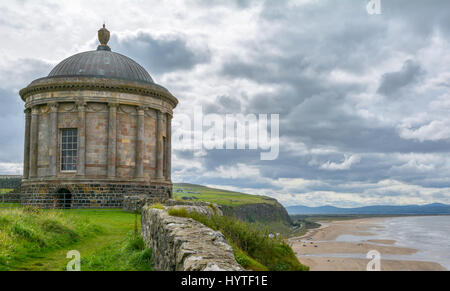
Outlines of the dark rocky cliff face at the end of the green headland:
[{"label": "dark rocky cliff face at the end of the green headland", "polygon": [[249,222],[283,222],[291,225],[292,220],[286,209],[275,199],[273,203],[244,204],[240,206],[222,206],[223,212],[227,216]]}]

